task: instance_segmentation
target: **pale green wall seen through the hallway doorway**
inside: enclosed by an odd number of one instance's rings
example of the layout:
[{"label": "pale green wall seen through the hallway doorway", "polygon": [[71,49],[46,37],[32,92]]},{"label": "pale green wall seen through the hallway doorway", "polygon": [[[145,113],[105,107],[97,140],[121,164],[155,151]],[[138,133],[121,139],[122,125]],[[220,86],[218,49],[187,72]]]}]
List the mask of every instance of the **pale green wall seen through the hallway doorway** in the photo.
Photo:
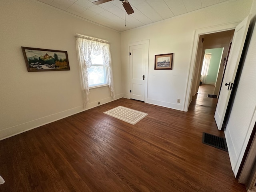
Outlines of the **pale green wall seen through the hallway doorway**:
[{"label": "pale green wall seen through the hallway doorway", "polygon": [[210,66],[209,66],[209,71],[208,71],[208,76],[206,78],[206,83],[205,84],[215,84],[216,79],[218,76],[219,68],[220,68],[220,61],[222,58],[222,52],[224,48],[215,48],[215,49],[206,49],[206,53],[211,53],[211,61],[210,61]]}]

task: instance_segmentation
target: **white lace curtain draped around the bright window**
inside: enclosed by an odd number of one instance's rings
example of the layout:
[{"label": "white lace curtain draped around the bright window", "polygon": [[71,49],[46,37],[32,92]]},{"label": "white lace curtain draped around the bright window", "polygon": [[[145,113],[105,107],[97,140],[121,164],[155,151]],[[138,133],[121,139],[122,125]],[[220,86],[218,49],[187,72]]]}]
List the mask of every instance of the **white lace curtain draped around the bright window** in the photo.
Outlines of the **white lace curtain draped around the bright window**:
[{"label": "white lace curtain draped around the bright window", "polygon": [[84,106],[89,103],[89,83],[88,68],[92,66],[92,54],[103,55],[103,65],[106,67],[108,76],[108,86],[111,97],[115,98],[114,82],[111,70],[110,45],[107,41],[97,38],[91,38],[83,35],[76,35],[76,48],[78,53],[78,62],[81,68],[82,84],[84,88]]}]

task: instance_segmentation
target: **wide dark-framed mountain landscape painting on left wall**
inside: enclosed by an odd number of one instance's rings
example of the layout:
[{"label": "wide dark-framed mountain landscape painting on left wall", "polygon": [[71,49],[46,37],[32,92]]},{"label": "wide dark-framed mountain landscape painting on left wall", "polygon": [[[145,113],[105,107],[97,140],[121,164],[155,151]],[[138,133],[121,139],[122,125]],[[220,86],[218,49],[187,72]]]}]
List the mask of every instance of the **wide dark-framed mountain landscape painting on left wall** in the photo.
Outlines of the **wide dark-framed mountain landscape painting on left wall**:
[{"label": "wide dark-framed mountain landscape painting on left wall", "polygon": [[28,72],[70,70],[68,52],[21,47]]}]

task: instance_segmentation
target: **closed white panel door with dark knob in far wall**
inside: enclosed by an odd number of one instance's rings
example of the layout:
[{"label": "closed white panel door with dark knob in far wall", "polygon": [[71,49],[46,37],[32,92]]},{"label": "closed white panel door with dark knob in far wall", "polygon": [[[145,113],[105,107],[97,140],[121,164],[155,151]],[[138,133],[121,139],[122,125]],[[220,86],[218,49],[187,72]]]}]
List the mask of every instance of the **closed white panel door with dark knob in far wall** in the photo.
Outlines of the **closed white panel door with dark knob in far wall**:
[{"label": "closed white panel door with dark knob in far wall", "polygon": [[130,46],[130,98],[145,101],[147,45]]}]

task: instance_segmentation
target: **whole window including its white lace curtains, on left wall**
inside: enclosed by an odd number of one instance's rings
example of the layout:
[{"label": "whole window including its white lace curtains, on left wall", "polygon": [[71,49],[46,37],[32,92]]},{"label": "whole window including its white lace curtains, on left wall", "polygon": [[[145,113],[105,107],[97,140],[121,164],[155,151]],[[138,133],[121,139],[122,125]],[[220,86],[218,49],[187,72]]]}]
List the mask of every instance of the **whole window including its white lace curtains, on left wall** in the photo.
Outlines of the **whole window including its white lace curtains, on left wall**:
[{"label": "whole window including its white lace curtains, on left wall", "polygon": [[105,40],[76,35],[78,62],[84,89],[84,106],[89,103],[89,88],[108,85],[115,98],[110,44]]}]

